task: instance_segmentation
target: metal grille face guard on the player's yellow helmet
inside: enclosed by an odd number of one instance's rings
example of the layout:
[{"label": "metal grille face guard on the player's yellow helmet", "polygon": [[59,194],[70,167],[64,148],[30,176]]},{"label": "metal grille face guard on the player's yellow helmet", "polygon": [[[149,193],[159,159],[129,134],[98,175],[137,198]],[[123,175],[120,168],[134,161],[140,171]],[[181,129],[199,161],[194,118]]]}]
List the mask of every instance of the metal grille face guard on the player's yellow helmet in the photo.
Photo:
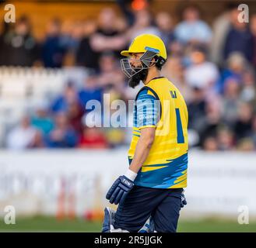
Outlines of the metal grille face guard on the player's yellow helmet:
[{"label": "metal grille face guard on the player's yellow helmet", "polygon": [[[146,52],[142,55],[142,57],[139,60],[136,60],[140,63],[141,66],[139,67],[132,67],[130,64],[131,60],[130,58],[121,59],[121,71],[124,72],[124,74],[130,78],[134,76],[135,74],[138,74],[140,71],[148,69],[149,67],[152,67],[156,62],[153,62],[154,64],[150,66],[152,63],[153,57],[156,56],[158,53],[157,50],[146,50]],[[132,59],[135,60],[135,59]]]}]

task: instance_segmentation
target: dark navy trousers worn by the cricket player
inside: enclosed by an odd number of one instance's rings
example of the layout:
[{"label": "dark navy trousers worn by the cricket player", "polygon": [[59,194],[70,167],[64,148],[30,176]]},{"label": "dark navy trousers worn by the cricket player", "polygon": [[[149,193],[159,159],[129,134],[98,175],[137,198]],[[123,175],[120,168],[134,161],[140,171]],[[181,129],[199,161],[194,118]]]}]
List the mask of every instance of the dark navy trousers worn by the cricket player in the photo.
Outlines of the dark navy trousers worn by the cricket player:
[{"label": "dark navy trousers worn by the cricket player", "polygon": [[182,191],[134,186],[124,203],[118,205],[114,228],[138,232],[151,215],[156,232],[176,232]]}]

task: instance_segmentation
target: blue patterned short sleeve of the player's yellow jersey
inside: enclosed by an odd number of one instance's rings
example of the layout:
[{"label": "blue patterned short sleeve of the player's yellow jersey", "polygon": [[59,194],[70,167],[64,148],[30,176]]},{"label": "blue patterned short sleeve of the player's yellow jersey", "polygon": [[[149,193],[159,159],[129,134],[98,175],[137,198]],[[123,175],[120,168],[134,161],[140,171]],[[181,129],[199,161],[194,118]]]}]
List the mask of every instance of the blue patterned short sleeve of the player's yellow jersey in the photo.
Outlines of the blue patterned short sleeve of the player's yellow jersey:
[{"label": "blue patterned short sleeve of the player's yellow jersey", "polygon": [[136,101],[137,113],[137,127],[143,129],[146,127],[156,127],[159,116],[159,100],[145,89],[139,93]]}]

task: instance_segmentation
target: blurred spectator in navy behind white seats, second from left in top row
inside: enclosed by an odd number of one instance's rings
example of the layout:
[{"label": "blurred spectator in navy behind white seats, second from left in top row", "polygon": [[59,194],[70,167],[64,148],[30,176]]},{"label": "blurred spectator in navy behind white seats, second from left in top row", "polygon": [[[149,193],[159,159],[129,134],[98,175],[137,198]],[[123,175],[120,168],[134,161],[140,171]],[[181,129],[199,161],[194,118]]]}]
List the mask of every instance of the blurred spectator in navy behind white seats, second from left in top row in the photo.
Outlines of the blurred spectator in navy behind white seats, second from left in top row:
[{"label": "blurred spectator in navy behind white seats, second from left in top row", "polygon": [[53,19],[47,26],[47,36],[42,45],[44,67],[61,67],[67,47],[61,43],[61,22]]}]

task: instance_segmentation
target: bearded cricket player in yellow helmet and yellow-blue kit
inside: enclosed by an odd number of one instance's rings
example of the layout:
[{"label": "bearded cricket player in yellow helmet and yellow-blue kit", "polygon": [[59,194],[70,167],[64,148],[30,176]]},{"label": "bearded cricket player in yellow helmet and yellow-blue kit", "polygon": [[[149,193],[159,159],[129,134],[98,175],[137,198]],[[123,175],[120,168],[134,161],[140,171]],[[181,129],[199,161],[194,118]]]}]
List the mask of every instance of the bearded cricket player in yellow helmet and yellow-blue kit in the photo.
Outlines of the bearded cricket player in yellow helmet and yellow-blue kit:
[{"label": "bearded cricket player in yellow helmet and yellow-blue kit", "polygon": [[176,232],[181,207],[186,204],[188,110],[181,92],[160,71],[167,50],[158,36],[135,37],[121,51],[121,69],[134,88],[145,84],[135,98],[128,171],[107,192],[119,204],[114,229],[139,232],[153,220],[155,232]]}]

